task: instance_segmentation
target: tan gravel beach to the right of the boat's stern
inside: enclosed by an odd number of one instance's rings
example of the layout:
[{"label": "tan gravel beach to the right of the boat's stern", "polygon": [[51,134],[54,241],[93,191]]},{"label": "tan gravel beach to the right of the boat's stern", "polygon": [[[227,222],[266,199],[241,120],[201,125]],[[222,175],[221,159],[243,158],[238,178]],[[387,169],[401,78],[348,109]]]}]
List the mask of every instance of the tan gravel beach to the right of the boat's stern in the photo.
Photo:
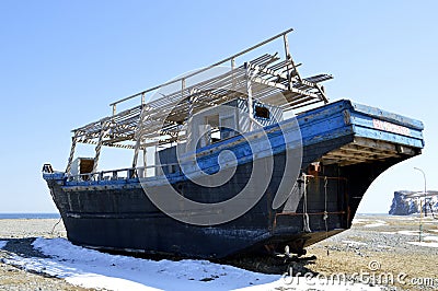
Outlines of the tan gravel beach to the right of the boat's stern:
[{"label": "tan gravel beach to the right of the boat's stern", "polygon": [[[422,219],[418,241],[418,217],[356,216],[350,230],[308,248],[318,259],[307,267],[326,276],[369,273],[362,282],[376,276],[389,290],[438,290],[438,220]],[[379,282],[385,275],[393,282]]]}]

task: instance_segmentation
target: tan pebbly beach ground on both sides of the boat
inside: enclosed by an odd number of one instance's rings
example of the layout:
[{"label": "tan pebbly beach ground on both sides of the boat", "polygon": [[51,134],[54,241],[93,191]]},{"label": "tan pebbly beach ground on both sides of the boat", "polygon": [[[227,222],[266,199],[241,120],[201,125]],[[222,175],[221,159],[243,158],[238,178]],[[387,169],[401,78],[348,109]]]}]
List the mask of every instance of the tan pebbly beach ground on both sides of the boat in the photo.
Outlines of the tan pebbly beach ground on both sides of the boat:
[{"label": "tan pebbly beach ground on both sides of the boat", "polygon": [[[7,265],[11,254],[43,256],[31,243],[35,237],[65,237],[62,222],[53,219],[0,220],[0,290],[87,290],[58,278],[31,273]],[[306,272],[321,278],[345,276],[387,290],[438,290],[438,220],[357,216],[350,230],[308,248],[304,259],[288,265],[296,276]]]}]

